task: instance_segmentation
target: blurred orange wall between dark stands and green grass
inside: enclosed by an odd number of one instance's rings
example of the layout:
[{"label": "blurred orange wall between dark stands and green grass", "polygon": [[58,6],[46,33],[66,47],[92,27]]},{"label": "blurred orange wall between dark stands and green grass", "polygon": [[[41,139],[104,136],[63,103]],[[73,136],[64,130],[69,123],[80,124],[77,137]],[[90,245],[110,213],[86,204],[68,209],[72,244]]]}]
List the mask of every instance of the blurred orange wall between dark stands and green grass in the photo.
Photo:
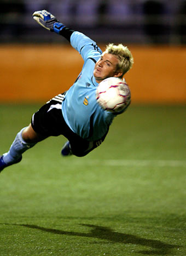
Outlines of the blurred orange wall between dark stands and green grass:
[{"label": "blurred orange wall between dark stands and green grass", "polygon": [[[186,103],[185,47],[129,48],[132,103]],[[1,45],[0,56],[1,103],[47,101],[67,90],[83,66],[70,45]]]}]

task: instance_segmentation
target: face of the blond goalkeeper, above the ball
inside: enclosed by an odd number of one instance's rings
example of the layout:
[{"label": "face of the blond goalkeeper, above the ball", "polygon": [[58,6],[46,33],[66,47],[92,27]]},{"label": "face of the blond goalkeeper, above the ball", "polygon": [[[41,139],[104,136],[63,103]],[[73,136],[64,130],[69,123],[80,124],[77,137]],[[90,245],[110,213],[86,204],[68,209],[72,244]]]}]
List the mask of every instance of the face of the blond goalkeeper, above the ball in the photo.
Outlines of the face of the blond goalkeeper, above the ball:
[{"label": "face of the blond goalkeeper, above the ball", "polygon": [[111,53],[103,53],[101,58],[96,62],[93,72],[96,78],[96,82],[100,83],[107,77],[118,77],[119,75],[122,75],[122,72],[116,72],[117,64],[117,56]]}]

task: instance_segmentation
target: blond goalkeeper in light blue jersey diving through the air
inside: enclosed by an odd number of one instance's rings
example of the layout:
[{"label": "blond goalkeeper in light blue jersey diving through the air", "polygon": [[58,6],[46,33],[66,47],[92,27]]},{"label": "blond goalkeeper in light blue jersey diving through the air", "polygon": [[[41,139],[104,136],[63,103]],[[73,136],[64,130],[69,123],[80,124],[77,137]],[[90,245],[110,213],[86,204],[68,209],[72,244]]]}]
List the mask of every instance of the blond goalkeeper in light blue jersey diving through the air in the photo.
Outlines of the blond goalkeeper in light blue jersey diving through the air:
[{"label": "blond goalkeeper in light blue jersey diving through the air", "polygon": [[[117,113],[103,110],[97,104],[98,83],[108,77],[123,78],[133,64],[130,50],[122,44],[109,44],[102,53],[92,39],[69,29],[46,10],[34,12],[33,19],[45,29],[65,37],[80,53],[84,65],[72,87],[49,100],[16,135],[9,151],[0,157],[0,172],[20,162],[22,153],[49,136],[67,138],[62,156],[82,157],[99,146]],[[126,108],[129,104],[130,100]]]}]

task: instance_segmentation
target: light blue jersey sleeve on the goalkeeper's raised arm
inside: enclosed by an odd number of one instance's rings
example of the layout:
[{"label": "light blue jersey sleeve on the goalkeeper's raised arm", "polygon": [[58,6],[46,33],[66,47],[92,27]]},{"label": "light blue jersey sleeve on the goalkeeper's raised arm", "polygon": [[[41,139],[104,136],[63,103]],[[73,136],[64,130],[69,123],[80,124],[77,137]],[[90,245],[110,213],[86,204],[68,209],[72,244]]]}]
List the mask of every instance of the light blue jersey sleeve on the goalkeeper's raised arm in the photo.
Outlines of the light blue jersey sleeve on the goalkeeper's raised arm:
[{"label": "light blue jersey sleeve on the goalkeeper's raised arm", "polygon": [[93,56],[100,57],[102,54],[102,50],[97,46],[96,42],[78,31],[72,33],[71,45],[82,55],[84,61]]}]

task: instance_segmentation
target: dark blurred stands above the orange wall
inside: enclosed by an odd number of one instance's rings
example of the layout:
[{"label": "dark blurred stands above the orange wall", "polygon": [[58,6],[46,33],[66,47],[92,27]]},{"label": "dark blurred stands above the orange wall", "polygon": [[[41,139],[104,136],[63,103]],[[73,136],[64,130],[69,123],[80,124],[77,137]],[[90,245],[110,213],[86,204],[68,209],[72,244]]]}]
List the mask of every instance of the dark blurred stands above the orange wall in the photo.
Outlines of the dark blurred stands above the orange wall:
[{"label": "dark blurred stands above the orange wall", "polygon": [[42,9],[98,42],[186,42],[183,0],[1,0],[1,43],[61,42],[31,19],[34,10]]}]

